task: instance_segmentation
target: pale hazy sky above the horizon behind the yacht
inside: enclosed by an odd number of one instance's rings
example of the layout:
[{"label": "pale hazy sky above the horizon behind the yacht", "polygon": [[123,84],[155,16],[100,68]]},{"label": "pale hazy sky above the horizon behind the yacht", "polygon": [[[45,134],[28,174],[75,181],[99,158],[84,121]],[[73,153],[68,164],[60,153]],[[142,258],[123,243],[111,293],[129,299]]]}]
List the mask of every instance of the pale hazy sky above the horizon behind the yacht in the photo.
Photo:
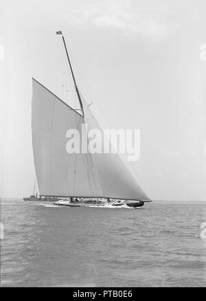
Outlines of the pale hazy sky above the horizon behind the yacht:
[{"label": "pale hazy sky above the horizon behind the yacht", "polygon": [[32,77],[77,105],[62,89],[62,30],[100,124],[141,129],[133,168],[149,197],[206,200],[205,1],[0,3],[1,197],[33,189]]}]

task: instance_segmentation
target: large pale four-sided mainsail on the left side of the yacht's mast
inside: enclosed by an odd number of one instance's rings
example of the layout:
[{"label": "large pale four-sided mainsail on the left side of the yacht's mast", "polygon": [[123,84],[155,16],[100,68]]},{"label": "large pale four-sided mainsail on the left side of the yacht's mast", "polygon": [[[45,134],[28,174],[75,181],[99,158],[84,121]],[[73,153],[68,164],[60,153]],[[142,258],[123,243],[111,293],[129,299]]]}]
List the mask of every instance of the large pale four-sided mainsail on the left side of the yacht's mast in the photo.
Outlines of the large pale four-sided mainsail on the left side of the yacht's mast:
[{"label": "large pale four-sided mainsail on the left side of the yacht's mast", "polygon": [[102,196],[91,154],[66,151],[67,130],[80,130],[82,123],[82,115],[33,79],[32,144],[41,195]]}]

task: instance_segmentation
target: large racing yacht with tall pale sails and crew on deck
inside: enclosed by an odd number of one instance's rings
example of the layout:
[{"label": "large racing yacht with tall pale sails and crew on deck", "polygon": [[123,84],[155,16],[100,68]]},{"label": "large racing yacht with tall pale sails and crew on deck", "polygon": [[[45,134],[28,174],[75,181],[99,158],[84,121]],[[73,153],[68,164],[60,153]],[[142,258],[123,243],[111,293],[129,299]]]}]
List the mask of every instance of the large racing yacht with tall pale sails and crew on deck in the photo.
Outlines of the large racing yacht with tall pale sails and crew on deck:
[{"label": "large racing yacht with tall pale sails and crew on deck", "polygon": [[32,146],[41,196],[58,199],[58,205],[74,207],[136,208],[150,202],[117,153],[67,153],[68,129],[76,129],[81,135],[86,125],[87,131],[98,129],[104,133],[80,93],[65,38],[61,31],[56,34],[62,37],[80,109],[73,109],[32,78]]}]

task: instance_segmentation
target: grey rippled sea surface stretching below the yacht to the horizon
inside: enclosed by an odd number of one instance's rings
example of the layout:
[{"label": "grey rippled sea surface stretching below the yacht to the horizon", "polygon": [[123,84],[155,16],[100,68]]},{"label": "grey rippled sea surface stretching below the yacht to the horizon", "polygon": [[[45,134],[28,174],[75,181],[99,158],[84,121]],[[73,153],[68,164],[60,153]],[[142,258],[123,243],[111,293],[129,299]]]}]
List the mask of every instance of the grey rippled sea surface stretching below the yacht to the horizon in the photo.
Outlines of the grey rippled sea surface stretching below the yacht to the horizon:
[{"label": "grey rippled sea surface stretching below the yacht to the horizon", "polygon": [[1,200],[1,286],[202,287],[206,204],[67,208]]}]

